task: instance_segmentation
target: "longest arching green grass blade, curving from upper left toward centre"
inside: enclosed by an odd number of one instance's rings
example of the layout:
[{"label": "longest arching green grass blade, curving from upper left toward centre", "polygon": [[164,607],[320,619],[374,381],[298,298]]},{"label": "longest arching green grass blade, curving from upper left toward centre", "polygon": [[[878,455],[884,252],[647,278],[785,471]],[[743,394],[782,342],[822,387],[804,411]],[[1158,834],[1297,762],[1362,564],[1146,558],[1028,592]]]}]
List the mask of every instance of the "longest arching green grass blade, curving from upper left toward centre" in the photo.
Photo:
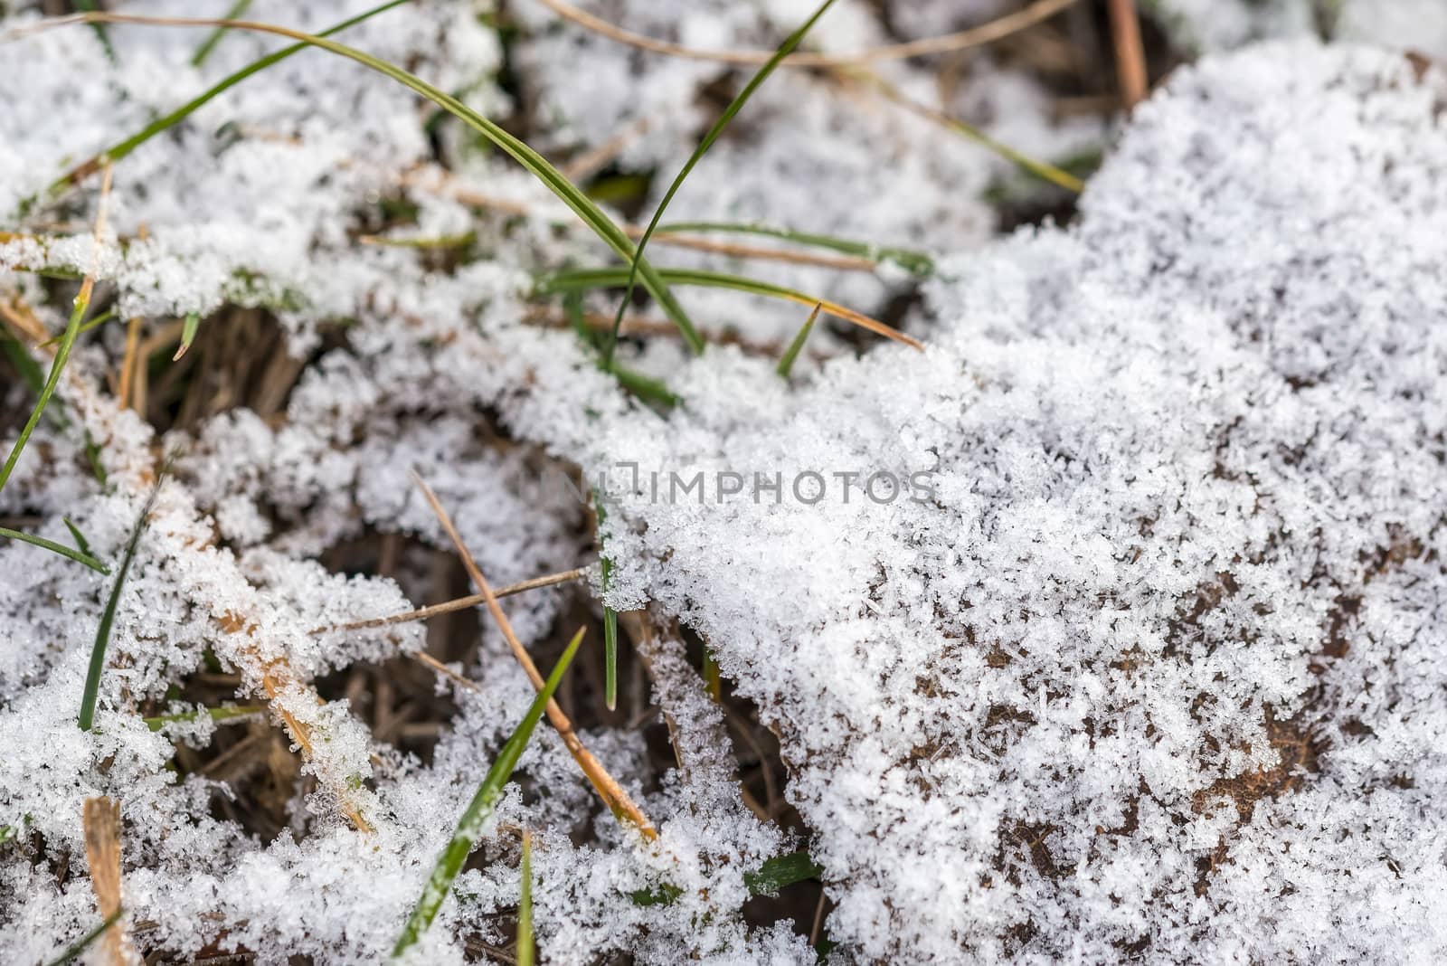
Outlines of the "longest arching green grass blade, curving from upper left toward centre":
[{"label": "longest arching green grass blade, curving from upper left toward centre", "polygon": [[[396,6],[398,3],[404,1],[405,0],[394,0],[386,6],[388,7]],[[638,255],[638,249],[634,246],[628,234],[622,228],[619,228],[618,224],[615,224],[614,220],[609,218],[602,208],[593,204],[593,201],[590,201],[587,195],[583,194],[583,191],[580,191],[577,185],[569,181],[557,168],[550,165],[547,159],[543,158],[543,155],[532,150],[532,148],[530,148],[527,142],[504,130],[501,126],[483,117],[478,111],[472,110],[451,94],[447,94],[433,87],[431,84],[417,77],[415,74],[404,71],[402,68],[389,64],[386,61],[382,61],[379,58],[375,58],[370,54],[357,51],[356,48],[346,46],[344,43],[337,43],[336,40],[328,40],[324,36],[314,36],[311,33],[292,30],[289,27],[276,26],[273,23],[256,23],[253,20],[204,20],[204,19],[190,19],[190,17],[146,17],[146,16],[135,16],[123,13],[85,13],[71,17],[59,17],[56,20],[51,20],[49,23],[51,25],[142,23],[150,26],[224,26],[237,30],[275,33],[278,36],[291,38],[292,40],[298,40],[300,43],[321,48],[323,51],[330,51],[331,54],[336,54],[339,56],[356,61],[357,64],[362,64],[363,67],[373,69],[378,74],[382,74],[383,77],[388,77],[396,81],[398,84],[411,88],[417,94],[425,97],[431,103],[446,110],[449,114],[453,114],[464,124],[476,130],[479,134],[482,134],[495,146],[502,149],[506,155],[509,155],[514,161],[522,165],[538,181],[547,185],[548,191],[551,191],[563,201],[563,204],[572,208],[573,213],[579,218],[582,218],[583,223],[587,224],[587,227],[590,227],[598,234],[599,239],[602,239],[611,249],[614,249],[614,252],[619,257],[628,260],[629,265],[634,265],[637,268],[637,273],[642,279],[644,288],[648,291],[650,295],[653,295],[654,301],[658,302],[664,314],[670,320],[673,320],[673,324],[679,327],[679,331],[683,334],[684,341],[689,343],[693,351],[696,353],[703,351],[703,344],[705,344],[703,337],[699,335],[696,328],[693,328],[692,320],[689,320],[687,312],[683,311],[683,307],[673,296],[673,292],[669,289],[667,282],[663,281],[657,269],[654,269],[647,259]],[[260,61],[258,61],[258,64],[260,64]],[[211,94],[210,91],[207,94],[214,97],[214,94]],[[164,124],[162,129],[166,126],[169,124]],[[155,132],[148,129],[148,132],[143,133],[146,137],[149,137]],[[129,142],[124,143],[129,145]],[[129,145],[129,148],[133,149],[135,145]],[[67,178],[62,178],[61,181],[67,181],[69,176],[71,175],[67,175]],[[635,255],[638,255],[638,257],[635,257]]]}]

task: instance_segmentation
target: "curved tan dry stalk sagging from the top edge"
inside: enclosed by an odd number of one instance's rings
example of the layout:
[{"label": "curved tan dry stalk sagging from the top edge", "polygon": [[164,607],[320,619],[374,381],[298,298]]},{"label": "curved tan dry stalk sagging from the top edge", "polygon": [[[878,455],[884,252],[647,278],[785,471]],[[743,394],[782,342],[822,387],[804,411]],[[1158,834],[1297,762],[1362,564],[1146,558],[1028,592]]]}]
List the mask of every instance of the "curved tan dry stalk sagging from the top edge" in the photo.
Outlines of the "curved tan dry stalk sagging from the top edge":
[{"label": "curved tan dry stalk sagging from the top edge", "polygon": [[[682,43],[655,40],[654,38],[644,36],[641,33],[624,30],[608,20],[574,7],[572,3],[567,3],[567,0],[541,0],[541,3],[557,16],[572,20],[593,33],[602,35],[609,40],[616,40],[618,43],[627,43],[628,46],[650,51],[653,54],[667,54],[669,56],[682,56],[692,61],[715,61],[718,64],[737,65],[767,64],[768,59],[774,56],[773,51],[700,51],[697,48],[683,46]],[[1075,3],[1075,0],[1037,0],[1037,3],[1030,4],[1024,10],[1019,10],[968,30],[959,30],[958,33],[923,38],[919,40],[909,40],[906,43],[890,43],[886,46],[870,48],[867,51],[855,51],[854,54],[790,54],[783,59],[783,65],[845,67],[851,64],[877,64],[880,61],[901,61],[904,58],[923,56],[926,54],[962,51],[965,48],[991,43],[1010,36],[1011,33],[1035,26],[1042,20],[1053,17],[1072,3]]]}]

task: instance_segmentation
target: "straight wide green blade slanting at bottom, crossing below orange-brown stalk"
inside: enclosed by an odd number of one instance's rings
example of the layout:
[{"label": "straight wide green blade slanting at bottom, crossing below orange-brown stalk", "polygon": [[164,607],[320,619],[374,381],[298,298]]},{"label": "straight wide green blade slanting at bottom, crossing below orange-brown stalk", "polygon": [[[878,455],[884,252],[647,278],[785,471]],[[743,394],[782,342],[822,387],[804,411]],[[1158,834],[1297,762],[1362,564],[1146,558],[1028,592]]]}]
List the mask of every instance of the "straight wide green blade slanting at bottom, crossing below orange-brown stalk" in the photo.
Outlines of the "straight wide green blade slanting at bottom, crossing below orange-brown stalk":
[{"label": "straight wide green blade slanting at bottom, crossing below orange-brown stalk", "polygon": [[478,836],[482,834],[483,823],[492,814],[492,808],[498,804],[498,800],[502,798],[502,791],[512,777],[512,769],[517,768],[518,759],[522,756],[522,749],[527,748],[528,739],[532,736],[532,729],[537,727],[538,720],[543,717],[543,710],[553,697],[553,691],[557,690],[559,681],[563,680],[567,665],[573,662],[573,655],[577,654],[577,645],[582,642],[583,632],[579,631],[573,635],[573,641],[569,642],[567,649],[563,651],[563,657],[553,665],[553,672],[548,674],[543,690],[532,698],[532,704],[528,707],[527,714],[522,716],[522,722],[518,723],[517,730],[512,732],[502,751],[498,752],[498,759],[488,769],[488,775],[478,787],[478,794],[472,797],[472,803],[469,803],[467,810],[463,811],[462,818],[457,821],[457,830],[453,833],[451,842],[447,843],[441,856],[437,858],[433,875],[427,881],[421,898],[417,899],[417,908],[412,910],[407,926],[402,927],[402,934],[396,937],[396,946],[392,947],[394,957],[411,949],[421,939],[423,933],[427,931],[427,927],[433,924],[433,920],[437,918],[437,911],[441,910],[443,899],[451,892],[453,881],[462,871],[467,856],[472,855],[472,847],[478,843]]}]

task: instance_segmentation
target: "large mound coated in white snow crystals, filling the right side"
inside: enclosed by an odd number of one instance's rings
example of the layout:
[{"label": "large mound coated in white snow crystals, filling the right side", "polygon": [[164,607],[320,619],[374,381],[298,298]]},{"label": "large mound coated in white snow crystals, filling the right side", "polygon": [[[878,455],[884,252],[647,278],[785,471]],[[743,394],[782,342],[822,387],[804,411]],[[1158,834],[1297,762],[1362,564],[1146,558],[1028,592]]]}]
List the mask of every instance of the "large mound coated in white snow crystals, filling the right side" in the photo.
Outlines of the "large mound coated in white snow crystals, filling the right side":
[{"label": "large mound coated in white snow crystals, filling the right side", "polygon": [[783,735],[852,954],[1447,949],[1447,78],[1418,74],[1182,69],[1077,227],[945,266],[923,356],[790,393],[710,353],[667,432],[595,450],[640,466],[632,593]]}]

